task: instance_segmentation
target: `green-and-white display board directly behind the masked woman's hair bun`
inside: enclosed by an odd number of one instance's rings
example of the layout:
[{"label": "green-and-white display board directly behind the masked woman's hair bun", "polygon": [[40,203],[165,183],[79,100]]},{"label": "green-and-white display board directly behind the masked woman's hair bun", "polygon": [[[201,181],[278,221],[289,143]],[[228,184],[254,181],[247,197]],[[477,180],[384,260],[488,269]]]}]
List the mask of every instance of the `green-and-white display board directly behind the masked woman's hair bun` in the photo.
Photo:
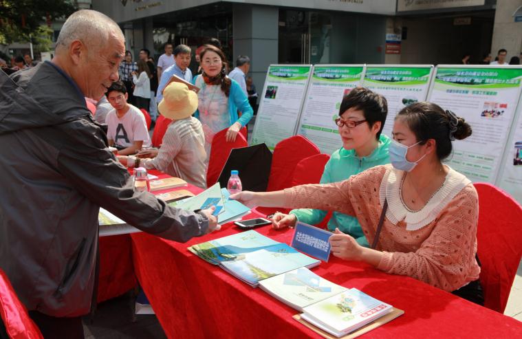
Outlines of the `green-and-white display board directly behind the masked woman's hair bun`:
[{"label": "green-and-white display board directly behind the masked woman's hair bun", "polygon": [[469,138],[453,142],[448,164],[473,182],[497,182],[508,135],[517,135],[511,129],[521,78],[521,66],[437,66],[428,101],[471,125]]}]

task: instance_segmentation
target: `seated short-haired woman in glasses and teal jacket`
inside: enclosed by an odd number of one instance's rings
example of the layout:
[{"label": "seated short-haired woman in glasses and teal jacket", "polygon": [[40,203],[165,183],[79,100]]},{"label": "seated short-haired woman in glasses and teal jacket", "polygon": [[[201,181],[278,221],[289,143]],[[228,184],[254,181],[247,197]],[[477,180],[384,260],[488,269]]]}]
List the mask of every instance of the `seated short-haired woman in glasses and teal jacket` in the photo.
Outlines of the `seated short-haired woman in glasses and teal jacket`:
[{"label": "seated short-haired woman in glasses and teal jacket", "polygon": [[[373,166],[389,164],[388,146],[390,139],[381,135],[386,121],[388,105],[386,99],[369,89],[352,89],[343,98],[336,124],[342,139],[342,147],[328,160],[321,184],[341,182]],[[277,212],[273,219],[274,228],[293,227],[296,221],[314,225],[327,215],[326,210],[301,208],[291,210],[289,215]],[[350,234],[363,246],[369,246],[355,217],[334,212],[328,221],[328,230],[338,228]]]}]

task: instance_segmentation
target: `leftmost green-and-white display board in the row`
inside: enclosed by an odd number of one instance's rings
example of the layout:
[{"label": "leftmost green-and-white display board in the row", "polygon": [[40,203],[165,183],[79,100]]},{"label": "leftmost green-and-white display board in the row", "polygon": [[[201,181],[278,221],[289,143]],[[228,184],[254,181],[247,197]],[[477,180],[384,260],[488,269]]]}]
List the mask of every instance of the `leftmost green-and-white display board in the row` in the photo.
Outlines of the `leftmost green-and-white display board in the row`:
[{"label": "leftmost green-and-white display board in the row", "polygon": [[252,144],[269,149],[295,134],[312,65],[270,65],[261,92]]}]

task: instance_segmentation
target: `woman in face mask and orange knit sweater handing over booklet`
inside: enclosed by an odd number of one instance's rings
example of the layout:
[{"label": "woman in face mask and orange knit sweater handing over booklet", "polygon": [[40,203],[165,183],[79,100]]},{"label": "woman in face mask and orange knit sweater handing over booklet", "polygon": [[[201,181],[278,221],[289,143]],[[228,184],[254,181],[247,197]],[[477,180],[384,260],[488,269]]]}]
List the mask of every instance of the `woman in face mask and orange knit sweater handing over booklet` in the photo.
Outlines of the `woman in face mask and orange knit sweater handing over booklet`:
[{"label": "woman in face mask and orange knit sweater handing over booklet", "polygon": [[354,215],[371,248],[336,230],[329,240],[335,256],[411,276],[483,304],[475,259],[477,191],[464,175],[442,164],[452,151],[452,140],[469,135],[464,119],[431,102],[417,102],[395,118],[391,165],[335,184],[243,192],[231,198],[248,206],[320,208]]}]

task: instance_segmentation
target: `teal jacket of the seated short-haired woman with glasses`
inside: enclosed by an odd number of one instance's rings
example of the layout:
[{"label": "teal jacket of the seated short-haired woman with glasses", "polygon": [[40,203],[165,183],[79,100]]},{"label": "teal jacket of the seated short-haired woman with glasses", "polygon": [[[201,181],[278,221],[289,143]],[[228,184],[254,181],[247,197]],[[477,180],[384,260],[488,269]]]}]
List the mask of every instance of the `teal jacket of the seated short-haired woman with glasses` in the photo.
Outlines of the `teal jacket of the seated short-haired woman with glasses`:
[{"label": "teal jacket of the seated short-haired woman with glasses", "polygon": [[[320,178],[320,183],[329,184],[331,182],[342,182],[351,175],[356,175],[373,166],[389,164],[388,146],[390,142],[390,138],[386,135],[381,135],[379,146],[367,157],[358,157],[353,149],[347,151],[341,147],[331,155],[330,160],[326,163],[323,177]],[[308,208],[291,210],[290,213],[295,215],[298,221],[309,223],[310,225],[320,223],[327,215],[326,210],[312,210]],[[360,245],[369,247],[365,234],[362,232],[356,217],[334,212],[328,221],[328,230],[333,232],[336,228],[341,232],[350,234]]]}]

